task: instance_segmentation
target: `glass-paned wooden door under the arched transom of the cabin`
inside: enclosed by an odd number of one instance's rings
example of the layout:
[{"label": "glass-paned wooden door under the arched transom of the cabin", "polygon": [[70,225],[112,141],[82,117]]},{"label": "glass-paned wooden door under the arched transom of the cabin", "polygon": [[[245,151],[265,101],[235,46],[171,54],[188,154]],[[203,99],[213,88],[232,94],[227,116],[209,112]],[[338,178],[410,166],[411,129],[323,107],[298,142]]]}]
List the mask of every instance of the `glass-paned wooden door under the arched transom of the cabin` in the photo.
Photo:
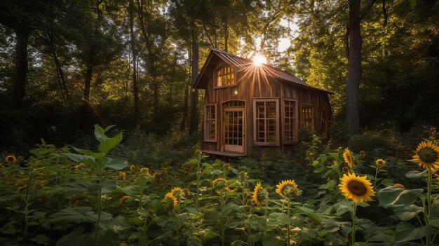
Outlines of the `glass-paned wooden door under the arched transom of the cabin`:
[{"label": "glass-paned wooden door under the arched transom of the cabin", "polygon": [[244,116],[244,108],[224,108],[224,151],[245,153]]}]

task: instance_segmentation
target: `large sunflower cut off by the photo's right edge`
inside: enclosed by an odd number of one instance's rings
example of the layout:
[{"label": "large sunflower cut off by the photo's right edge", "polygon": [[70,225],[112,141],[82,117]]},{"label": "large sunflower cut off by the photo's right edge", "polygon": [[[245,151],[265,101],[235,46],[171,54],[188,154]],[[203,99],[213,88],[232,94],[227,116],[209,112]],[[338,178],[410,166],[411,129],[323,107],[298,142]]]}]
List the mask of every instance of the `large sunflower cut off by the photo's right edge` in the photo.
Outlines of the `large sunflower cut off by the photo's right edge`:
[{"label": "large sunflower cut off by the photo's right edge", "polygon": [[439,146],[433,142],[421,142],[416,149],[413,160],[419,162],[419,167],[435,169],[439,168]]}]

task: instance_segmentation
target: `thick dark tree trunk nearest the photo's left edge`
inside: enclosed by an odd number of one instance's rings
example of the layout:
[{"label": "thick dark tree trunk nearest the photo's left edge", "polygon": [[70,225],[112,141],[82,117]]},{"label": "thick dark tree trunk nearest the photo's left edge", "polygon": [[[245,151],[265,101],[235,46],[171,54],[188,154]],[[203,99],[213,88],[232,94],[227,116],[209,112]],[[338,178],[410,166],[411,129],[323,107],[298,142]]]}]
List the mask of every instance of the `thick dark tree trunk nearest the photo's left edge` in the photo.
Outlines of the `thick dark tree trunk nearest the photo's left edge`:
[{"label": "thick dark tree trunk nearest the photo's left edge", "polygon": [[12,88],[11,107],[20,109],[25,97],[27,80],[27,41],[30,32],[26,27],[14,27],[15,31],[15,76]]}]

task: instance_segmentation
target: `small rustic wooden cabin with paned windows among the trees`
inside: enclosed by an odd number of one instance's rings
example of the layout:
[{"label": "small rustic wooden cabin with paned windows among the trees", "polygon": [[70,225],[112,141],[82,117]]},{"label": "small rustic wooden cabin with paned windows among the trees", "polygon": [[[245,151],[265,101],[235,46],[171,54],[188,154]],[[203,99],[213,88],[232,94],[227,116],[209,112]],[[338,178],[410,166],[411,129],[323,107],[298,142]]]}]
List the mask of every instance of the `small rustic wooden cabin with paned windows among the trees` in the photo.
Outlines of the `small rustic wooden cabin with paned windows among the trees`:
[{"label": "small rustic wooden cabin with paned windows among the trees", "polygon": [[246,156],[268,147],[291,149],[302,127],[329,137],[330,92],[287,71],[210,48],[192,87],[205,90],[203,153]]}]

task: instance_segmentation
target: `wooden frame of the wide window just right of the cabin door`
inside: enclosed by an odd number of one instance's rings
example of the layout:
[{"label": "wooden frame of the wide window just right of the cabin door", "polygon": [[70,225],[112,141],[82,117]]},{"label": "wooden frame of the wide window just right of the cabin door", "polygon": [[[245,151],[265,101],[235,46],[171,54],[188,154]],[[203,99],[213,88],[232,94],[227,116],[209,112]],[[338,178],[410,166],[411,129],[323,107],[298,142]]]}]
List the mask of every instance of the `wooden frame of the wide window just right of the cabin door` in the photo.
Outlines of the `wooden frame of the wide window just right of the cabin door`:
[{"label": "wooden frame of the wide window just right of the cabin door", "polygon": [[[275,102],[276,103],[276,142],[259,142],[257,141],[257,120],[261,119],[257,117],[257,102]],[[269,97],[269,98],[253,98],[252,102],[253,106],[253,142],[259,146],[279,146],[281,143],[281,128],[279,123],[279,97]],[[264,108],[266,108],[264,104]],[[264,109],[266,110],[266,109]],[[264,121],[270,118],[264,118]],[[266,129],[264,130],[264,134],[266,136]],[[267,137],[265,137],[267,139]]]}]

